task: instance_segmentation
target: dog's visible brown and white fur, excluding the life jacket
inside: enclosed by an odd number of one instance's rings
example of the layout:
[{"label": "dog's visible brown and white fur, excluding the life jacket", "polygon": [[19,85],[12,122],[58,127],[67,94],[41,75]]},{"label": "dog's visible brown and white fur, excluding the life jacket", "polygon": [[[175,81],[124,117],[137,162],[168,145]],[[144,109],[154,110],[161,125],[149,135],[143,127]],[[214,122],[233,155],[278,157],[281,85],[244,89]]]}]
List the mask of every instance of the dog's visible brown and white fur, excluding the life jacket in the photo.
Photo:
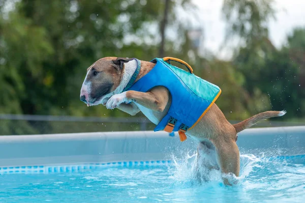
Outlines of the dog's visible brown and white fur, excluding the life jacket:
[{"label": "dog's visible brown and white fur, excluding the life jacket", "polygon": [[[137,63],[133,59],[122,57],[104,57],[87,69],[81,88],[80,100],[87,106],[105,105],[108,109],[118,108],[131,115],[139,111],[154,124],[158,124],[166,115],[171,95],[163,86],[156,86],[149,92],[122,92],[136,70]],[[147,74],[155,66],[154,63],[141,61],[141,69],[136,81]],[[131,102],[130,104],[127,104]],[[239,176],[239,151],[236,144],[237,133],[253,126],[258,121],[279,117],[285,111],[266,111],[238,124],[230,124],[223,112],[213,104],[198,124],[187,131],[187,135],[198,141],[199,152],[210,154],[209,168],[220,168],[223,174]],[[206,164],[206,163],[199,163]],[[224,183],[231,183],[223,176]]]}]

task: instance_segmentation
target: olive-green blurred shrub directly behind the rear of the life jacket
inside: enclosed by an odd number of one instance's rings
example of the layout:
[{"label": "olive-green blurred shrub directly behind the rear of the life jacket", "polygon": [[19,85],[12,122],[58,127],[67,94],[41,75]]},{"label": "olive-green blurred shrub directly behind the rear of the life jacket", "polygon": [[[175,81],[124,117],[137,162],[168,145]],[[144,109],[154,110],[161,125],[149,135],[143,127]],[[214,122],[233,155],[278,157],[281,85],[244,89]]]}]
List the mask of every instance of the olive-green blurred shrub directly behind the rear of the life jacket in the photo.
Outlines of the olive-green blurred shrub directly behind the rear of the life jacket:
[{"label": "olive-green blurred shrub directly behind the rear of the life jacket", "polygon": [[255,94],[249,95],[242,88],[242,85],[247,83],[246,78],[230,62],[218,60],[208,62],[202,75],[206,76],[206,80],[218,84],[222,89],[222,94],[216,103],[227,118],[247,119],[257,111],[268,110],[270,107],[268,97],[261,95],[259,90]]}]

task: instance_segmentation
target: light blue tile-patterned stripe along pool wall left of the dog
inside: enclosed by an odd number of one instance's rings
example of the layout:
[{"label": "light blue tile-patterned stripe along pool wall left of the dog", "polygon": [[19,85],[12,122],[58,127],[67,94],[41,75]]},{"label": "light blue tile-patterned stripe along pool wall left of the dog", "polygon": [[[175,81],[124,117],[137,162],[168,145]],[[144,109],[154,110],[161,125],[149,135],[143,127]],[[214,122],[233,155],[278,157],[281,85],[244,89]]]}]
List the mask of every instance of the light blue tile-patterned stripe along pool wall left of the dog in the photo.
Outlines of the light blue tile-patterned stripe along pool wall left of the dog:
[{"label": "light blue tile-patterned stripe along pool wall left of the dog", "polygon": [[169,165],[171,160],[157,161],[120,161],[107,163],[88,163],[81,165],[62,165],[62,166],[14,166],[0,167],[0,175],[6,173],[60,173],[60,172],[78,172],[85,170],[98,169],[111,166],[138,166],[138,165]]}]

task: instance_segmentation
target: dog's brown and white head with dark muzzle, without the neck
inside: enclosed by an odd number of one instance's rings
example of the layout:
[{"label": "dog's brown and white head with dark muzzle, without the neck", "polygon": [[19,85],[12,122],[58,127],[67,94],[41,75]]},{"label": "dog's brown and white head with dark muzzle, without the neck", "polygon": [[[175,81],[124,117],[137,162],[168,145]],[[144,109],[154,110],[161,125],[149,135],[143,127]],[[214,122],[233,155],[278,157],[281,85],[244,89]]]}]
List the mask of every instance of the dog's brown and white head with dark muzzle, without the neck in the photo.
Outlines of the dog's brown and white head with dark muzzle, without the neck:
[{"label": "dog's brown and white head with dark muzzle, without the neck", "polygon": [[87,106],[105,105],[115,93],[124,73],[124,63],[133,59],[104,57],[87,69],[87,75],[80,90],[80,100]]}]

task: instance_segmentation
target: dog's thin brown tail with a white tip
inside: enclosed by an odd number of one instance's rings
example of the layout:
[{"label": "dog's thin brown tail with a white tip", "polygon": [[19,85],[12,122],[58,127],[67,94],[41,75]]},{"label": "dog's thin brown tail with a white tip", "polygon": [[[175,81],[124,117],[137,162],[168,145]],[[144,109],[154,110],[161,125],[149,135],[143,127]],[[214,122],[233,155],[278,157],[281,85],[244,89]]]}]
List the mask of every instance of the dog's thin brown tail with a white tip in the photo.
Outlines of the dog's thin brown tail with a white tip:
[{"label": "dog's thin brown tail with a white tip", "polygon": [[250,128],[251,126],[255,125],[257,122],[273,117],[281,117],[282,115],[285,115],[286,111],[265,111],[259,114],[254,115],[253,117],[246,119],[245,121],[242,121],[240,123],[234,124],[234,128],[236,130],[236,133],[245,130],[246,128]]}]

